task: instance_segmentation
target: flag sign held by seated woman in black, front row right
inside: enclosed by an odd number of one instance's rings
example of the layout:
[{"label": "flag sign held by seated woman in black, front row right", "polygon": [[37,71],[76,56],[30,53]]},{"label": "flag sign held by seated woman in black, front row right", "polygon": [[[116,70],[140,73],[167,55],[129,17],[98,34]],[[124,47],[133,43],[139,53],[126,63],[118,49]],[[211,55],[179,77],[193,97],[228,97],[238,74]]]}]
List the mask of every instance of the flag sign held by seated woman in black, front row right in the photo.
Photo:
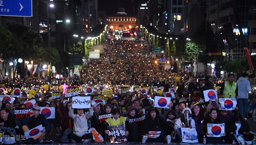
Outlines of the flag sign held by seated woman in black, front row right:
[{"label": "flag sign held by seated woman in black, front row right", "polygon": [[210,124],[207,123],[207,133],[210,135],[208,137],[221,137],[224,136],[225,123],[222,124]]}]

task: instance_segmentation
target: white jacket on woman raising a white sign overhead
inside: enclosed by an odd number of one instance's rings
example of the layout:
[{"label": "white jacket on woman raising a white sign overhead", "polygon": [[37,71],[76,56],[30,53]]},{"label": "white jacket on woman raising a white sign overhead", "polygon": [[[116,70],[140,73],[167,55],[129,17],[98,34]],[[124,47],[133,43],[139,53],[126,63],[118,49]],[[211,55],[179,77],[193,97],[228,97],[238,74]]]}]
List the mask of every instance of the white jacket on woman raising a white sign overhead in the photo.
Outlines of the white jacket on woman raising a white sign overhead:
[{"label": "white jacket on woman raising a white sign overhead", "polygon": [[91,118],[91,116],[93,116],[92,108],[89,109],[89,113],[79,116],[78,114],[74,114],[74,109],[70,107],[69,117],[74,120],[73,133],[79,137],[82,137],[84,134],[88,133],[87,120]]}]

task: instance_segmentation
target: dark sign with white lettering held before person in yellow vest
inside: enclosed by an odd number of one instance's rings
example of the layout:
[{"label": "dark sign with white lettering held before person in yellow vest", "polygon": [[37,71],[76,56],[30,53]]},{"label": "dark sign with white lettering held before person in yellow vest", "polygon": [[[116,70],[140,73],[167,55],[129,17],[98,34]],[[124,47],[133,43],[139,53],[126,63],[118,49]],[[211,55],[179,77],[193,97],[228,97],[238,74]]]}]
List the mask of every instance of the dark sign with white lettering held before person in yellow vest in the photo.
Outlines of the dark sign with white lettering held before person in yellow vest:
[{"label": "dark sign with white lettering held before person in yellow vest", "polygon": [[115,139],[125,138],[125,125],[108,126],[107,130],[109,131],[108,139],[112,136],[114,136]]}]

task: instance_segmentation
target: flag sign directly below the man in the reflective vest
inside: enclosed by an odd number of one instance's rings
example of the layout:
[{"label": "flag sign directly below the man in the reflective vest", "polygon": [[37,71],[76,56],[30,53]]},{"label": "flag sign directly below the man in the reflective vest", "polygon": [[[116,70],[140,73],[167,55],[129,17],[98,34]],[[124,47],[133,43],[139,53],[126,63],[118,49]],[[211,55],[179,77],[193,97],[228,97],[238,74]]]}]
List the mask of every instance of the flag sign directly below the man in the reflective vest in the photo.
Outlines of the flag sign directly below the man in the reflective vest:
[{"label": "flag sign directly below the man in the reflective vest", "polygon": [[236,98],[219,98],[221,107],[219,110],[235,110],[236,109]]}]

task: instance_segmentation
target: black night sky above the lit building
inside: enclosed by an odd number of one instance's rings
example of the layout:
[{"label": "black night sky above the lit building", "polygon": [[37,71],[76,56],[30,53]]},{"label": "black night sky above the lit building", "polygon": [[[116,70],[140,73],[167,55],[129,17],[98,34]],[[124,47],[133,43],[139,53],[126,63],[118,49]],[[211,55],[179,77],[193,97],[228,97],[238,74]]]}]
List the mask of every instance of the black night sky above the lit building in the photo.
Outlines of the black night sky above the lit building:
[{"label": "black night sky above the lit building", "polygon": [[[134,0],[134,10],[137,15],[138,6],[147,2],[146,0]],[[107,15],[114,15],[118,8],[125,8],[127,15],[134,15],[131,0],[99,0],[98,11],[106,11]]]}]

